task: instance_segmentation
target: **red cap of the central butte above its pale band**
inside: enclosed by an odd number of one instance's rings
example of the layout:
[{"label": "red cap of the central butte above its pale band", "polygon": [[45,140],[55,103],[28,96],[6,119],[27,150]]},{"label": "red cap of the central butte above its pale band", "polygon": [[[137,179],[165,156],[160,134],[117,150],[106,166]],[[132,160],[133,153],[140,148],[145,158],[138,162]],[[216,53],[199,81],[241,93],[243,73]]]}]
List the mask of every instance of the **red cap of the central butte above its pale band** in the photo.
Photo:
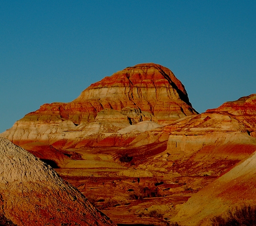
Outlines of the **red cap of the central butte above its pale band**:
[{"label": "red cap of the central butte above its pale band", "polygon": [[[158,88],[160,84],[170,84],[173,89],[177,90],[178,97],[191,106],[188,98],[187,91],[183,84],[177,79],[177,77],[169,70],[167,67],[162,65],[157,65],[153,63],[149,64],[139,64],[133,67],[126,67],[122,71],[118,71],[111,76],[107,76],[90,85],[87,89],[85,89],[80,96],[74,101],[83,101],[86,99],[91,99],[95,97],[99,98],[113,98],[113,95],[118,97],[122,97],[122,93],[116,93],[115,87],[128,88],[126,93],[123,96],[123,100],[127,99],[127,97],[131,97],[131,101],[136,99],[132,96],[134,86],[143,91],[144,88]],[[99,89],[101,88],[101,89]],[[104,89],[107,88],[107,89]],[[111,88],[111,89],[109,89]],[[121,91],[121,90],[120,90]],[[131,92],[131,93],[130,93]],[[138,92],[138,91],[137,91]],[[135,92],[135,93],[137,93]],[[148,96],[145,96],[146,93],[142,97],[145,99],[149,99]],[[139,94],[138,94],[139,95]],[[156,97],[157,98],[157,97]],[[158,97],[161,98],[161,97]]]}]

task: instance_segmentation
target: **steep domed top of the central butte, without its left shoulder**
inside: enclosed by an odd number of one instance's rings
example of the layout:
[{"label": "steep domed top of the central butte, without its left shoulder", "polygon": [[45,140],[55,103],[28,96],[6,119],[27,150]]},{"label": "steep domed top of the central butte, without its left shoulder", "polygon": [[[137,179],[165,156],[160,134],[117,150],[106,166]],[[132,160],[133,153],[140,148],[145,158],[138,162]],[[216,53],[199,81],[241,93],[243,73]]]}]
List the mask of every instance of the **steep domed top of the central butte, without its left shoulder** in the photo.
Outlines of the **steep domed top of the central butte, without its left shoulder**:
[{"label": "steep domed top of the central butte, without its left shoulder", "polygon": [[107,76],[90,85],[73,102],[89,100],[97,100],[104,109],[121,111],[128,118],[129,111],[123,108],[132,108],[141,120],[160,124],[197,114],[177,77],[167,67],[153,63],[127,67]]}]

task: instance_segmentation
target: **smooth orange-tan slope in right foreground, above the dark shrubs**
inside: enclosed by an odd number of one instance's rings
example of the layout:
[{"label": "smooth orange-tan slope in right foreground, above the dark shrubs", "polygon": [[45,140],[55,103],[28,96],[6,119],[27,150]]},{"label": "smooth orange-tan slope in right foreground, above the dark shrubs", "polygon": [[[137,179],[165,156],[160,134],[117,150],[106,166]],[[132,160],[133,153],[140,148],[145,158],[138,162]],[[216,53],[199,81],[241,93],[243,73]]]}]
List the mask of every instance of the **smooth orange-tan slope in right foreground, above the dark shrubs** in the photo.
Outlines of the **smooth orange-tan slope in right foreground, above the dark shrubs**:
[{"label": "smooth orange-tan slope in right foreground, above the dark shrubs", "polygon": [[[208,226],[211,218],[224,215],[233,206],[255,205],[256,152],[232,170],[193,194],[173,218],[181,225]],[[232,208],[231,208],[232,209]]]}]

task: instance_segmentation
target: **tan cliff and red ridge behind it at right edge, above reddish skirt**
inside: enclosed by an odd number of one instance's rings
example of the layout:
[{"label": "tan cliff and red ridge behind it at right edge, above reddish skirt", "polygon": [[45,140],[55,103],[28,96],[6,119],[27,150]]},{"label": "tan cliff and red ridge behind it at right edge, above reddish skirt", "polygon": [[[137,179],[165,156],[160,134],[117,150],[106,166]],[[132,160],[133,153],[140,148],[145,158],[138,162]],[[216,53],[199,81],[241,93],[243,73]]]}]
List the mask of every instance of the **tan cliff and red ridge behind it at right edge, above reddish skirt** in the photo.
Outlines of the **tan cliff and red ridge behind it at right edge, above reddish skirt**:
[{"label": "tan cliff and red ridge behind it at right edge, above reddish skirt", "polygon": [[213,150],[216,157],[228,154],[229,158],[242,160],[255,151],[256,95],[226,102],[197,116],[181,118],[164,130],[170,134],[167,149],[172,160],[188,159],[198,152],[209,158]]}]

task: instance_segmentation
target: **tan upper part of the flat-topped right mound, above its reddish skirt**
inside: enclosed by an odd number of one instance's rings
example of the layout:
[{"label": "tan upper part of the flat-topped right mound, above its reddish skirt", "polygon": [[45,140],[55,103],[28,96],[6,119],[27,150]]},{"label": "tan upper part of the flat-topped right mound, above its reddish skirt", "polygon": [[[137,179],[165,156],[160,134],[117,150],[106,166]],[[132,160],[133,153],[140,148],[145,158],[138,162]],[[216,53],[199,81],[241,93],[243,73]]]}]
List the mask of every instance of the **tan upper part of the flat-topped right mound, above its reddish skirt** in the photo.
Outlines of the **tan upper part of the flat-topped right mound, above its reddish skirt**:
[{"label": "tan upper part of the flat-topped right mound, above its reddish skirt", "polygon": [[[169,158],[172,161],[188,160],[198,153],[209,158],[213,150],[215,157],[223,158],[228,152],[230,157],[233,155],[234,158],[242,160],[246,157],[243,150],[250,150],[251,153],[254,151],[254,146],[250,148],[250,144],[255,139],[248,135],[245,125],[225,112],[206,112],[180,119],[166,126],[164,130],[170,134],[167,151],[171,153]],[[237,145],[244,146],[243,149],[239,148],[239,155],[236,151]],[[231,147],[234,154],[230,150]],[[217,149],[220,149],[218,154]]]}]

